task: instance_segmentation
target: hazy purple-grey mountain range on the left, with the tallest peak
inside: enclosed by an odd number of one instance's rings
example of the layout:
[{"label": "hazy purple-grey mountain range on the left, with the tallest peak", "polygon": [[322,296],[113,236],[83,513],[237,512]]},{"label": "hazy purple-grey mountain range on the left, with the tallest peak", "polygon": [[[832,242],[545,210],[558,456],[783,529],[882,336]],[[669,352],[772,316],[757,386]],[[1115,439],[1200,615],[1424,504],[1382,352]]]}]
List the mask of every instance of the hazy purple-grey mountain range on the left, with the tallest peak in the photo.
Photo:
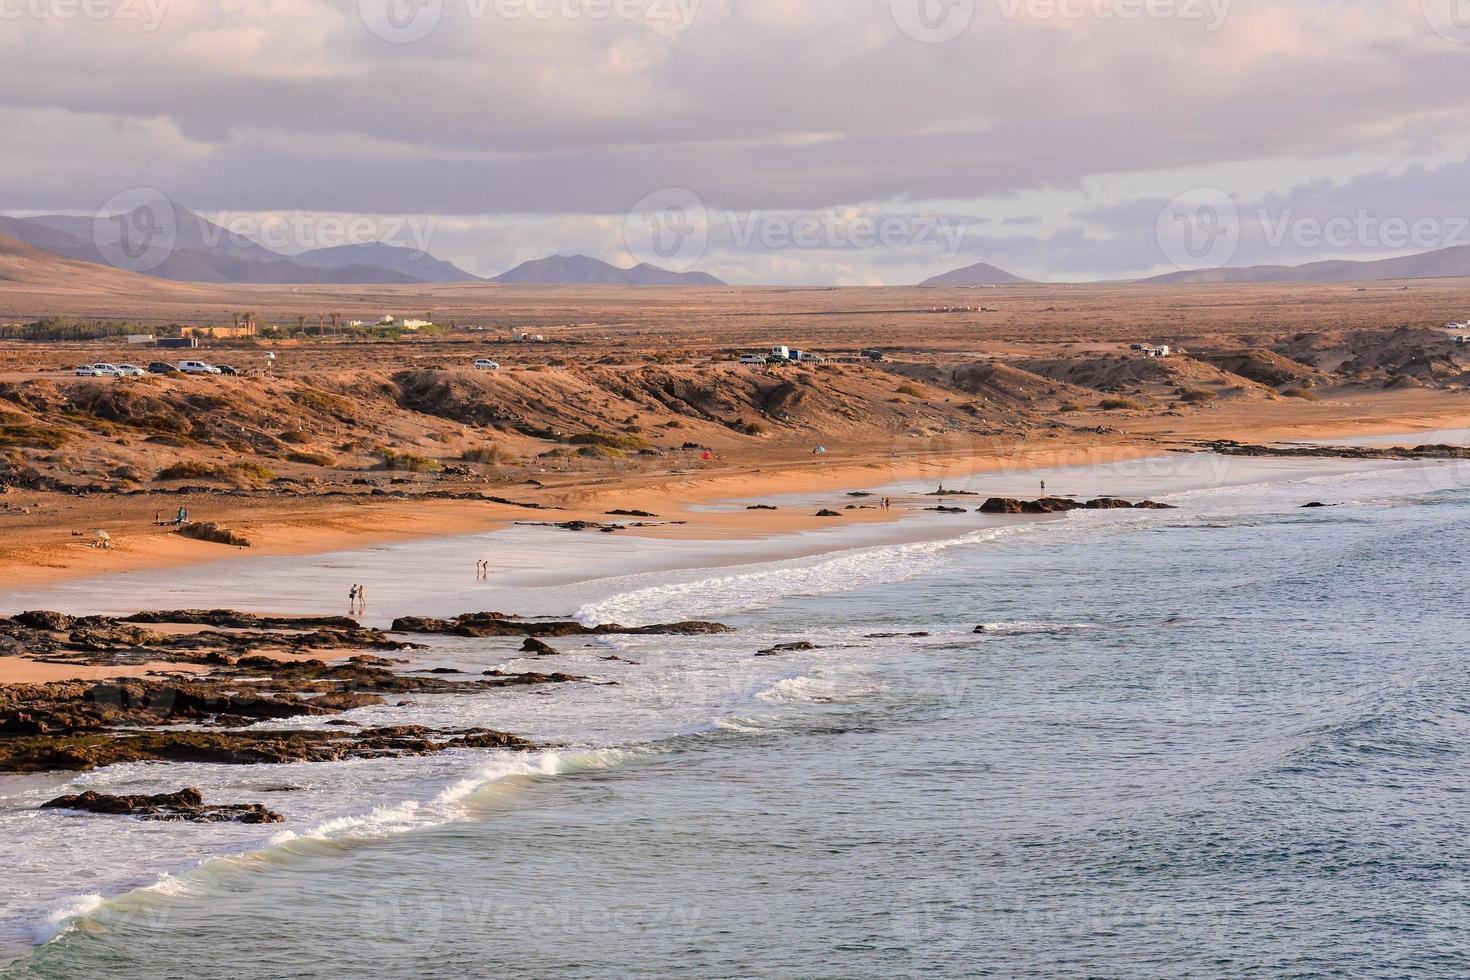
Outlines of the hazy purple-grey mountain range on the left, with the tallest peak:
[{"label": "hazy purple-grey mountain range on the left, with the tallest peak", "polygon": [[[172,219],[166,217],[165,223],[169,220],[172,223],[172,248],[156,267],[147,269],[147,275],[159,279],[259,285],[485,282],[451,262],[387,242],[337,245],[285,256],[245,235],[220,228],[194,212],[175,204],[171,207]],[[153,215],[147,217],[154,219]],[[40,215],[24,219],[0,215],[0,237],[76,262],[112,266],[107,256],[122,239],[123,223],[119,222],[115,229],[109,222],[74,215]],[[650,264],[619,269],[587,256],[551,256],[528,262],[490,282],[723,285],[706,273],[678,273]]]}]

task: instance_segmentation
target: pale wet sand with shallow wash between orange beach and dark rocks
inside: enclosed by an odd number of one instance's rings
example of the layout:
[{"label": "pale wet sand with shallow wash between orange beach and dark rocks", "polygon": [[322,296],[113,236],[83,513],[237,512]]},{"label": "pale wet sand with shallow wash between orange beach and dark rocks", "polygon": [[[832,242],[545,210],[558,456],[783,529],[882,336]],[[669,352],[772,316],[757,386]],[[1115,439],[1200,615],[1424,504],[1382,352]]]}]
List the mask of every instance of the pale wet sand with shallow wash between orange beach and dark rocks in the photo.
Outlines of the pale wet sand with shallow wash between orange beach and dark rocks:
[{"label": "pale wet sand with shallow wash between orange beach and dark rocks", "polygon": [[[748,511],[741,505],[745,500],[741,500],[722,511],[691,511],[703,523],[628,530],[620,535],[622,542],[595,532],[514,527],[498,520],[487,522],[485,529],[462,527],[457,533],[401,536],[390,544],[375,535],[376,544],[372,545],[350,542],[359,547],[325,548],[319,552],[262,554],[235,550],[226,558],[181,566],[193,570],[187,577],[171,574],[176,570],[175,566],[157,564],[134,573],[9,589],[0,594],[0,613],[19,616],[24,610],[49,610],[75,617],[126,617],[140,610],[231,608],[257,616],[320,617],[338,608],[337,585],[341,585],[345,595],[347,583],[363,582],[372,595],[372,611],[353,617],[363,627],[387,630],[398,617],[453,619],[466,611],[490,608],[514,610],[531,619],[578,619],[585,613],[588,619],[584,621],[588,624],[637,624],[637,619],[619,619],[628,613],[619,613],[616,605],[598,608],[600,591],[613,585],[647,594],[663,582],[675,605],[682,608],[659,621],[676,621],[706,614],[704,607],[688,605],[688,588],[701,574],[714,583],[760,579],[781,566],[823,564],[828,560],[856,560],[860,563],[856,567],[861,569],[863,555],[867,554],[910,547],[942,548],[973,533],[1008,533],[1017,526],[1057,520],[1064,514],[1005,513],[975,520],[982,514],[976,510],[978,505],[989,497],[1035,500],[1036,486],[1032,479],[1038,473],[1048,479],[1054,497],[1078,501],[1111,497],[1141,502],[1167,501],[1170,497],[1188,497],[1202,489],[1295,483],[1385,467],[1398,469],[1396,461],[1389,460],[1335,457],[1263,458],[1144,450],[1101,455],[1107,458],[1098,458],[1095,450],[1082,454],[1085,458],[1076,453],[1050,454],[1028,460],[1028,467],[1014,470],[1005,469],[1004,460],[988,460],[988,466],[967,470],[969,479],[956,479],[953,460],[925,460],[906,472],[919,473],[916,479],[931,480],[936,475],[933,470],[944,469],[942,478],[954,491],[951,495],[939,498],[932,491],[919,492],[916,488],[903,488],[913,492],[900,495],[883,485],[883,494],[894,494],[895,510],[844,511],[853,516],[848,520],[817,520],[806,507],[792,507],[788,498],[779,495],[829,495],[838,492],[836,488],[851,486],[847,480],[854,473],[853,467],[839,466],[820,473],[800,470],[785,482],[767,480],[763,489],[770,495],[754,500],[779,501],[784,510],[776,514]],[[1041,469],[1045,463],[1066,469]],[[860,469],[869,479],[894,478],[889,470],[875,473],[869,466]],[[704,491],[704,498],[731,500],[726,485],[729,479],[726,475],[700,480],[697,486]],[[978,485],[969,480],[976,480]],[[925,483],[929,485],[932,483]],[[684,505],[692,508],[695,504],[689,489],[689,482],[681,482],[678,488]],[[644,494],[648,492],[645,488]],[[663,492],[672,495],[675,491],[663,488]],[[853,494],[848,491],[844,500],[853,498]],[[832,507],[841,505],[836,500],[829,502]],[[863,504],[870,505],[866,498]],[[944,513],[945,507],[957,510]],[[973,523],[964,520],[966,513]],[[784,516],[785,523],[772,520]],[[498,529],[498,533],[476,544],[476,538],[484,538],[491,529]],[[751,533],[757,529],[759,533]],[[491,579],[479,579],[472,588],[469,561],[478,554],[497,555],[495,572]],[[462,558],[463,579],[459,564]],[[713,595],[706,598],[717,601]],[[556,608],[550,608],[551,605]],[[171,629],[163,627],[162,632]],[[38,670],[29,670],[22,658],[0,658],[0,689],[15,683],[143,677],[151,667],[65,673],[44,661],[32,664]]]}]

